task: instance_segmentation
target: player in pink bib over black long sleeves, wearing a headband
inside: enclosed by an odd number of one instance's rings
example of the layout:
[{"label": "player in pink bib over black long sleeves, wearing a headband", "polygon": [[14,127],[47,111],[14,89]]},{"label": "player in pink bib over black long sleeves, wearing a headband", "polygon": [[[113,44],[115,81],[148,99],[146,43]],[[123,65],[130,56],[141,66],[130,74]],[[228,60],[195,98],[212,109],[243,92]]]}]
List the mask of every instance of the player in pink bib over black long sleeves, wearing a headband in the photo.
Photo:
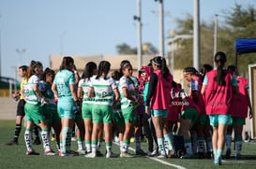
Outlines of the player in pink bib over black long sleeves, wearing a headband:
[{"label": "player in pink bib over black long sleeves, wearing a headband", "polygon": [[[164,139],[168,142],[169,152],[173,149],[171,137],[168,134],[167,115],[171,103],[171,90],[173,76],[166,66],[163,57],[155,57],[152,60],[154,72],[150,75],[148,94],[146,98],[145,112],[151,114],[158,138],[158,158],[166,158]],[[149,110],[150,105],[150,110]]]}]

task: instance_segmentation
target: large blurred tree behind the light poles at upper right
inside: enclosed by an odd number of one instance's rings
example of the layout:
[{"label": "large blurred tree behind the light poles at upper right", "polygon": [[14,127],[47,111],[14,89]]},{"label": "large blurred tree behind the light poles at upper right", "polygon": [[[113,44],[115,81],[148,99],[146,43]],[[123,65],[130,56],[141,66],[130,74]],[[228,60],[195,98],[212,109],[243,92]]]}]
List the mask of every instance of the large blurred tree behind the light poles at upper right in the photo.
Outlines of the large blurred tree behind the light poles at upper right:
[{"label": "large blurred tree behind the light poles at upper right", "polygon": [[[218,23],[218,50],[227,54],[226,65],[234,63],[234,41],[236,37],[256,37],[256,9],[248,5],[242,7],[238,4],[229,10],[223,10],[224,22]],[[178,23],[177,34],[193,33],[193,18],[187,15],[184,20],[176,20]],[[193,65],[193,40],[179,40],[179,48],[175,52],[175,67],[183,69]],[[203,63],[213,64],[214,56],[214,22],[201,23],[201,65]],[[249,53],[238,56],[238,69],[242,73],[248,72],[248,63],[255,63],[256,54]]]}]

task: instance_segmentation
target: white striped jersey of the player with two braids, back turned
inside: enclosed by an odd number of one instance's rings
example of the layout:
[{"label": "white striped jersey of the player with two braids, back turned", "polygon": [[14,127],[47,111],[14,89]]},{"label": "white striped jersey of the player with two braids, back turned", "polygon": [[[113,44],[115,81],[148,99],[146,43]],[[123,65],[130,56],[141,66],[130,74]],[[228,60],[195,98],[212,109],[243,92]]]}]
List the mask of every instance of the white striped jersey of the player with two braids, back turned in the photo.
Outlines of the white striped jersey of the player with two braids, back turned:
[{"label": "white striped jersey of the player with two braids, back turned", "polygon": [[96,105],[113,106],[113,90],[117,88],[113,77],[93,78],[89,86],[94,88]]}]

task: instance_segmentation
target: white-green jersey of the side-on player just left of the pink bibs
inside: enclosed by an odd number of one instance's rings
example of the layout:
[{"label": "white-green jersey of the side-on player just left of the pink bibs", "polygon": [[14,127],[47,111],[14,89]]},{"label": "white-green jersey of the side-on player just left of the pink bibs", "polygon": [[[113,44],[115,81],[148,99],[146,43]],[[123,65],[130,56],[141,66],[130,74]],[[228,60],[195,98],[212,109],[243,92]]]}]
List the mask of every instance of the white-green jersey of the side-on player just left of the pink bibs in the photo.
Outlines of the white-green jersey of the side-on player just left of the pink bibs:
[{"label": "white-green jersey of the side-on player just left of the pink bibs", "polygon": [[130,77],[123,76],[119,79],[119,88],[118,88],[121,95],[121,108],[127,108],[128,106],[133,106],[134,102],[129,100],[127,97],[125,97],[123,88],[127,88],[128,93],[133,98],[136,98],[134,81]]}]

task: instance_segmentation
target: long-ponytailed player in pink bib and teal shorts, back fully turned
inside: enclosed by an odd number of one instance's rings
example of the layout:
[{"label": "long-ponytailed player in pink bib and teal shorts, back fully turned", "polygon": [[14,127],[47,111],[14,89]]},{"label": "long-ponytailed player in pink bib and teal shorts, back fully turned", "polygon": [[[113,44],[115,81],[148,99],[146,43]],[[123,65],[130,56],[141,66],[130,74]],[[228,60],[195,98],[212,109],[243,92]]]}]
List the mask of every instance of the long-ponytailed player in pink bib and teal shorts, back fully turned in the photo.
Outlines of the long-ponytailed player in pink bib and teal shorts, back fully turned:
[{"label": "long-ponytailed player in pink bib and teal shorts, back fully turned", "polygon": [[225,145],[225,135],[231,120],[230,109],[233,92],[238,93],[237,81],[233,75],[224,70],[226,54],[218,51],[215,54],[217,70],[206,73],[203,79],[202,94],[205,95],[206,114],[213,126],[214,163],[221,164],[221,155]]}]

